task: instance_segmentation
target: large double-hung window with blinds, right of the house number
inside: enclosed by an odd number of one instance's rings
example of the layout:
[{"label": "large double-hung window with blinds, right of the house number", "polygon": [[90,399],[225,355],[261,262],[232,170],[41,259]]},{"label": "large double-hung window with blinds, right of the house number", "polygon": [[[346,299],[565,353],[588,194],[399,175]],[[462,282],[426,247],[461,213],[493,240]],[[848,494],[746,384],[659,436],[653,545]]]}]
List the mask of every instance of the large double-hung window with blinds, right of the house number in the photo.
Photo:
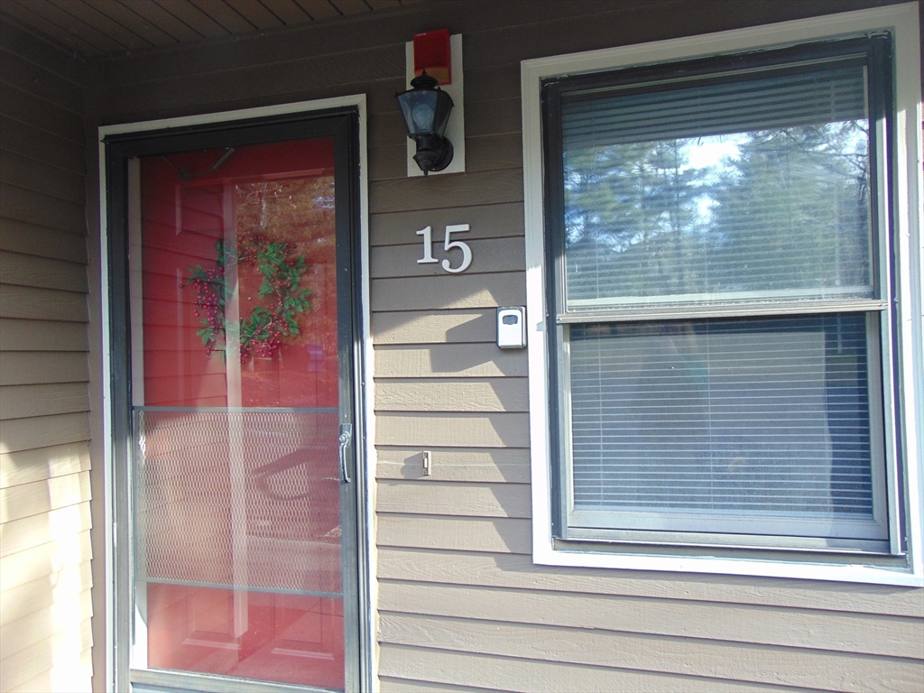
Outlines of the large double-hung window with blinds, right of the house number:
[{"label": "large double-hung window with blinds, right of the house number", "polygon": [[537,553],[907,569],[894,35],[624,62],[524,68]]}]

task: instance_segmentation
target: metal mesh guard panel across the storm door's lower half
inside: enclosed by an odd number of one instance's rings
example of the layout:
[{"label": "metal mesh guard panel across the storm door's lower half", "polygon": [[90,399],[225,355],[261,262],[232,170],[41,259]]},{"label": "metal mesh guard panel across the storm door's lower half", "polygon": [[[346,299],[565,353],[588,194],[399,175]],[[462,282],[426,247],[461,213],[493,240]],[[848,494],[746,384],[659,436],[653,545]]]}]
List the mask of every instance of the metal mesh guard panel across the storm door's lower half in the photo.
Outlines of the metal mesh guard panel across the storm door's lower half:
[{"label": "metal mesh guard panel across the storm door's lower half", "polygon": [[335,409],[136,418],[139,579],[340,593]]}]

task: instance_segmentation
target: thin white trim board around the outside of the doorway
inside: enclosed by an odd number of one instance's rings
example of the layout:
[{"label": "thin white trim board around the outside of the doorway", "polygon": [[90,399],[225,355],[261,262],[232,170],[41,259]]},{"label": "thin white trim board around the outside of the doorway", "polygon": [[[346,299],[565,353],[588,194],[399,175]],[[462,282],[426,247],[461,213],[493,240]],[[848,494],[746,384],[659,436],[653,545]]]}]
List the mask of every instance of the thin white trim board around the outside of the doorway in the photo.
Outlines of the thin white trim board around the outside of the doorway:
[{"label": "thin white trim board around the outside of the doorway", "polygon": [[[198,116],[179,116],[172,118],[161,118],[156,120],[143,120],[134,123],[123,123],[119,125],[103,126],[98,129],[99,137],[99,176],[100,176],[100,286],[101,301],[100,310],[102,315],[101,326],[103,331],[103,480],[105,483],[105,497],[103,499],[105,514],[105,545],[108,553],[105,556],[105,604],[106,604],[106,689],[116,691],[116,642],[115,633],[115,607],[116,607],[116,590],[115,590],[115,560],[116,560],[116,507],[114,495],[114,451],[112,440],[112,362],[109,358],[111,341],[110,341],[110,301],[109,301],[109,249],[107,239],[107,206],[106,199],[106,150],[103,140],[113,135],[123,135],[131,133],[155,132],[167,128],[185,128],[196,125],[206,125],[212,123],[230,123],[239,120],[251,118],[264,118],[270,116],[286,116],[289,114],[310,113],[314,111],[333,110],[337,108],[356,107],[359,110],[359,264],[362,272],[362,282],[360,287],[361,301],[361,319],[362,345],[360,351],[360,361],[362,371],[356,374],[357,382],[363,383],[363,401],[356,402],[356,411],[363,416],[363,426],[365,440],[362,442],[363,454],[366,460],[366,493],[365,504],[362,512],[365,514],[366,527],[366,546],[365,562],[367,565],[368,575],[366,577],[369,589],[369,611],[365,614],[367,622],[365,627],[371,636],[370,638],[370,661],[368,664],[368,676],[370,681],[375,681],[375,673],[378,671],[378,641],[374,637],[377,628],[377,611],[374,604],[377,603],[377,584],[373,577],[376,574],[376,554],[375,547],[375,526],[374,526],[374,509],[375,509],[375,446],[372,442],[375,440],[375,418],[374,402],[375,392],[374,383],[371,373],[375,369],[375,352],[372,349],[371,335],[371,280],[370,280],[370,237],[369,237],[369,139],[367,130],[369,127],[369,116],[366,106],[366,95],[355,94],[349,96],[339,96],[330,99],[320,99],[318,101],[302,101],[296,103],[282,103],[273,106],[260,106],[255,108],[242,108],[233,111],[222,111],[219,113],[201,114]],[[362,547],[360,547],[362,548]],[[360,561],[362,565],[362,561]],[[360,667],[360,671],[365,666]],[[128,672],[126,672],[128,676]],[[369,683],[369,682],[365,682]]]}]

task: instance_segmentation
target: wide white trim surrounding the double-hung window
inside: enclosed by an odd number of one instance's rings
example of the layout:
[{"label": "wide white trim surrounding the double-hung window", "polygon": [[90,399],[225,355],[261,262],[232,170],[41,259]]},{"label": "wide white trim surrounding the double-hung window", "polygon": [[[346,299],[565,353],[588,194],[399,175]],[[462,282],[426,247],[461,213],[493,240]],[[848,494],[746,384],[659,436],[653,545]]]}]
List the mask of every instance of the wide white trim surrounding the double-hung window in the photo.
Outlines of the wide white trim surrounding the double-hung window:
[{"label": "wide white trim surrounding the double-hung window", "polygon": [[[536,58],[521,64],[523,94],[523,179],[526,214],[527,310],[529,331],[529,411],[532,464],[533,561],[539,565],[608,567],[718,573],[743,576],[796,577],[844,582],[924,586],[924,356],[922,356],[920,205],[922,182],[920,38],[918,5],[887,6],[819,18],[800,19],[743,30],[730,30],[682,39],[622,46],[589,53]],[[549,432],[548,339],[545,322],[545,246],[543,223],[541,79],[611,70],[619,67],[674,62],[756,48],[782,47],[845,35],[888,30],[894,37],[895,180],[894,228],[898,325],[896,387],[902,407],[895,412],[902,430],[901,464],[905,475],[907,556],[904,565],[825,563],[817,554],[807,560],[729,558],[723,555],[685,556],[644,553],[592,553],[555,547],[552,536],[552,455]],[[898,562],[896,562],[897,564]]]}]

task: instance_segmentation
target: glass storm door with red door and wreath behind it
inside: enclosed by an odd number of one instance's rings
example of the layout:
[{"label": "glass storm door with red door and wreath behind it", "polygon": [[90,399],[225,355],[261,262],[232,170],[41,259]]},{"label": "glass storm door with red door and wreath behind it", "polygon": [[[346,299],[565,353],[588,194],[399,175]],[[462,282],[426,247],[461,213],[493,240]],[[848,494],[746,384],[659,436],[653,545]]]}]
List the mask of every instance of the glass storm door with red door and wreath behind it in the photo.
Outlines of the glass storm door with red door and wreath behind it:
[{"label": "glass storm door with red door and wreath behind it", "polygon": [[113,162],[135,690],[359,687],[351,122],[125,142]]}]

